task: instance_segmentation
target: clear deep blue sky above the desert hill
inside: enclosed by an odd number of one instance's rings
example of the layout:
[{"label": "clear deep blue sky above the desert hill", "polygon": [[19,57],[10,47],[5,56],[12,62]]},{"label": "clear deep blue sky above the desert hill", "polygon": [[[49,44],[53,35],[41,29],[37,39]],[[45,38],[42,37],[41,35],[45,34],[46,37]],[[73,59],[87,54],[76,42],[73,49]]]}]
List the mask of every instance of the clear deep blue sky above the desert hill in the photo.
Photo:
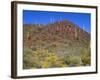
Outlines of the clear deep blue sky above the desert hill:
[{"label": "clear deep blue sky above the desert hill", "polygon": [[73,12],[52,12],[23,10],[23,24],[48,24],[51,22],[69,20],[85,31],[91,31],[91,14]]}]

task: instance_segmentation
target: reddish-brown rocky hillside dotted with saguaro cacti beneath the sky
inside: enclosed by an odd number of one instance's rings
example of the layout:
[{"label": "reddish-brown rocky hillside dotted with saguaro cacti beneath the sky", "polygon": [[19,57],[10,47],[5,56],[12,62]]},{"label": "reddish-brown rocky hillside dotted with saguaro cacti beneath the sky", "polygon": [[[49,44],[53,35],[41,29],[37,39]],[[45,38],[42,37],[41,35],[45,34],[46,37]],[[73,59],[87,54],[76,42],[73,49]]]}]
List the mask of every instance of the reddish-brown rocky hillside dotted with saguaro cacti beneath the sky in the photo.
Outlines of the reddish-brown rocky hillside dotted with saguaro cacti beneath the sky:
[{"label": "reddish-brown rocky hillside dotted with saguaro cacti beneath the sky", "polygon": [[84,53],[90,55],[90,33],[70,21],[63,20],[47,25],[24,24],[23,28],[24,49],[36,51],[42,48],[56,53],[59,57],[79,57]]}]

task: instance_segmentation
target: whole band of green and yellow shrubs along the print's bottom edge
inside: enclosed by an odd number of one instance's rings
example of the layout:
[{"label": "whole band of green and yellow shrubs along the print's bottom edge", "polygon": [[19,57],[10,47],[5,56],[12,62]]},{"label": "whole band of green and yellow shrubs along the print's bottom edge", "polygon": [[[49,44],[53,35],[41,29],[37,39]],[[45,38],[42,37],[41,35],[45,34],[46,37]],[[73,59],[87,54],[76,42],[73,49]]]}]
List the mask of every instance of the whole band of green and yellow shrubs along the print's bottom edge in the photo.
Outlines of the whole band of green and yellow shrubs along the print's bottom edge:
[{"label": "whole band of green and yellow shrubs along the print's bottom edge", "polygon": [[81,55],[67,55],[64,57],[59,57],[56,53],[44,48],[37,48],[35,51],[29,48],[24,50],[24,69],[86,66],[90,63],[90,52],[87,49],[83,49]]}]

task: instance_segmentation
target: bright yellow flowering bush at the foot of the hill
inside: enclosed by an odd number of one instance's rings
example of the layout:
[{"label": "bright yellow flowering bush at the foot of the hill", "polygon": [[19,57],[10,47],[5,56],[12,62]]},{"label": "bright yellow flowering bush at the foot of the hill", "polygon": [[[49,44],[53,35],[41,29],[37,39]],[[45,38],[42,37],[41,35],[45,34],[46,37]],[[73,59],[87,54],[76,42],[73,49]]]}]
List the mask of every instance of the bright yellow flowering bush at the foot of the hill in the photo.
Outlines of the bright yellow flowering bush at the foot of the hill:
[{"label": "bright yellow flowering bush at the foot of the hill", "polygon": [[[41,68],[48,67],[62,67],[64,66],[63,61],[53,52],[49,52],[45,49],[37,49],[33,52],[35,57],[38,57],[38,61],[40,61]],[[34,60],[36,61],[36,60]]]}]

